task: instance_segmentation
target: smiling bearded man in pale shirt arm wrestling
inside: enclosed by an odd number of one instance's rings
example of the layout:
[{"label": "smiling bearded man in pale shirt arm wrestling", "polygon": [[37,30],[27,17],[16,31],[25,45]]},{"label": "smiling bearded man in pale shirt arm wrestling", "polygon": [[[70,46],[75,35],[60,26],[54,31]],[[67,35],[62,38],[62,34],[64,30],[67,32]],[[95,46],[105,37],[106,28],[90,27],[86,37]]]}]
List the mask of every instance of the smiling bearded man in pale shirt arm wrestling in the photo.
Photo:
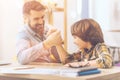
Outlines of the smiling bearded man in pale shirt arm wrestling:
[{"label": "smiling bearded man in pale shirt arm wrestling", "polygon": [[55,47],[62,42],[60,31],[46,26],[45,7],[37,1],[28,1],[23,6],[23,14],[26,25],[17,35],[18,61],[21,64],[60,62]]}]

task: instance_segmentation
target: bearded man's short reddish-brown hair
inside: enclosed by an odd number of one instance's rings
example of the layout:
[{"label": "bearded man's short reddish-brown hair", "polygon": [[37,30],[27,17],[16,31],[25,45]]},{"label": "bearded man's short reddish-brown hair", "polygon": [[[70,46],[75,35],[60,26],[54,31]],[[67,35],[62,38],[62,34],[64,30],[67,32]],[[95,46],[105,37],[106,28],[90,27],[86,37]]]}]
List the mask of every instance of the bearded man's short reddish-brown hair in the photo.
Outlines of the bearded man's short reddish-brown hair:
[{"label": "bearded man's short reddish-brown hair", "polygon": [[38,1],[27,1],[23,6],[23,14],[29,14],[31,10],[40,11],[45,9],[46,7]]}]

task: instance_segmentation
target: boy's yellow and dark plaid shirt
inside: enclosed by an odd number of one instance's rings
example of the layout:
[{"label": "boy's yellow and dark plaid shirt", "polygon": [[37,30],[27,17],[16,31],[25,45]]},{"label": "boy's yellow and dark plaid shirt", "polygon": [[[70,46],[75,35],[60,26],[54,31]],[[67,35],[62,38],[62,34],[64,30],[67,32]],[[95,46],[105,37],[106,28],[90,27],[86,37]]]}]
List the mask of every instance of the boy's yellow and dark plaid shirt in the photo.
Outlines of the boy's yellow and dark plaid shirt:
[{"label": "boy's yellow and dark plaid shirt", "polygon": [[[70,57],[73,61],[95,60],[100,68],[110,68],[113,66],[112,56],[104,43],[98,43],[91,50],[81,50],[80,52],[72,54],[72,56]],[[70,57],[67,57],[68,60],[66,59],[66,61],[71,60]]]}]

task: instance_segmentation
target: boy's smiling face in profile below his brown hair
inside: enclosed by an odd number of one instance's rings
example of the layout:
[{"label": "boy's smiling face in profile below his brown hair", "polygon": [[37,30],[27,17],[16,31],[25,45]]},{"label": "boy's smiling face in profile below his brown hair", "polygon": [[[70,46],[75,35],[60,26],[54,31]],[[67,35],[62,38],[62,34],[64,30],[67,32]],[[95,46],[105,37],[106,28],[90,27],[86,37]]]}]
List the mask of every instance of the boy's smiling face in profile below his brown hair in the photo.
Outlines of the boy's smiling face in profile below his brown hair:
[{"label": "boy's smiling face in profile below his brown hair", "polygon": [[78,46],[79,49],[87,48],[88,46],[87,42],[83,41],[77,36],[73,36],[73,37],[74,37],[74,43]]}]

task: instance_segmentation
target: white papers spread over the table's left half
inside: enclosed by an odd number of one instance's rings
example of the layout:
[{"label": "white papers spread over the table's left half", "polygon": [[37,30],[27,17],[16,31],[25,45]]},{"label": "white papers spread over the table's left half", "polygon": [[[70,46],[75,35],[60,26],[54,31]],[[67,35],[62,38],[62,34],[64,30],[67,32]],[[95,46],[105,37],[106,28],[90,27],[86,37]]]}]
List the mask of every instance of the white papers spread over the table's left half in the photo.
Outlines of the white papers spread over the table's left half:
[{"label": "white papers spread over the table's left half", "polygon": [[33,67],[0,68],[0,73],[4,73],[4,74],[58,74],[59,69],[33,68]]}]

